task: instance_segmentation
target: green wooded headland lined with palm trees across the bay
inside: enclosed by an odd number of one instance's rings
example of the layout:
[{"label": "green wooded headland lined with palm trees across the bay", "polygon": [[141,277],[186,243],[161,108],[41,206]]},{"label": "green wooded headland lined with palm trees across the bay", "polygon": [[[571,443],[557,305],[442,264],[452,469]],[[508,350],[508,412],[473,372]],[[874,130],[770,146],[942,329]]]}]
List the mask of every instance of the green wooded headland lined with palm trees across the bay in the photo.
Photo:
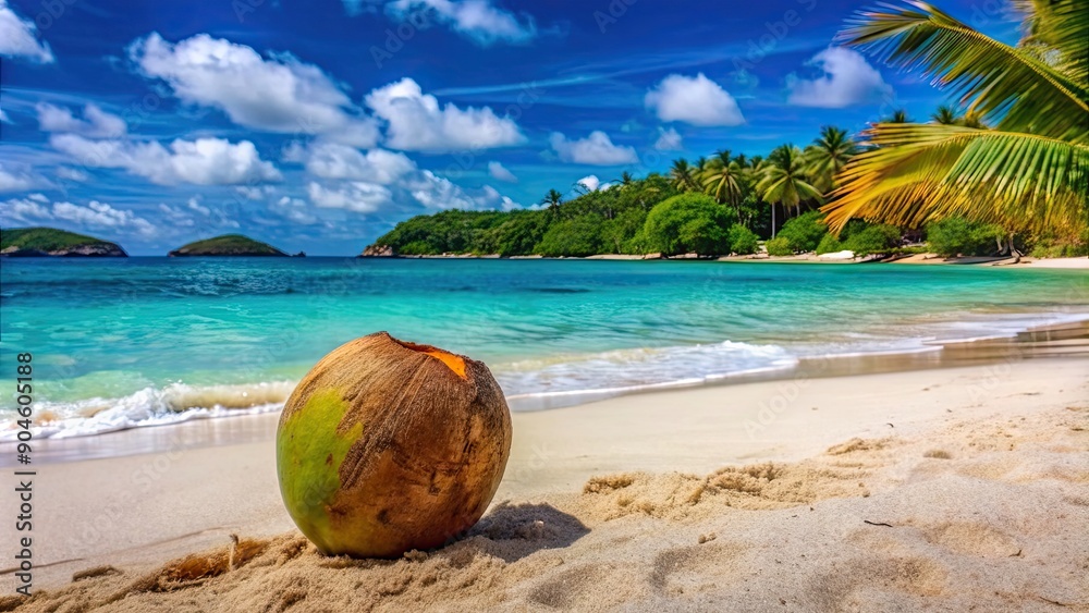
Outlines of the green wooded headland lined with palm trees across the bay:
[{"label": "green wooded headland lined with palm trees across the bay", "polygon": [[[905,126],[946,130],[953,136],[996,132],[949,106],[938,108],[926,123],[909,122],[897,111],[864,134],[872,138]],[[363,256],[1089,255],[1089,231],[1077,222],[1035,224],[952,207],[917,219],[901,219],[895,209],[846,217],[842,198],[860,180],[845,184],[844,177],[890,150],[824,126],[804,149],[785,144],[766,157],[723,149],[695,161],[682,158],[668,174],[636,179],[624,172],[592,191],[575,184],[575,196],[566,201],[551,189],[531,210],[417,216],[380,236]]]}]

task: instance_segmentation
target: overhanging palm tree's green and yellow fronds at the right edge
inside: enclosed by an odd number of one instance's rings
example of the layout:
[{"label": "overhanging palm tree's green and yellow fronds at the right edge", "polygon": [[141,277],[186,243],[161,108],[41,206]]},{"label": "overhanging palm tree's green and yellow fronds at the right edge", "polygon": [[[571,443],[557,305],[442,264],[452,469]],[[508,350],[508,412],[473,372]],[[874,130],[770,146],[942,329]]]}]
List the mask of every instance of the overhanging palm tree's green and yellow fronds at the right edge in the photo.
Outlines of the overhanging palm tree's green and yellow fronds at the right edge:
[{"label": "overhanging palm tree's green and yellow fronds at the right edge", "polygon": [[[1012,0],[1016,47],[920,0],[864,11],[841,33],[891,64],[920,68],[958,95],[971,124],[877,123],[824,207],[919,226],[965,216],[1007,229],[1077,232],[1089,201],[1089,2]],[[987,128],[983,122],[991,124]]]}]

